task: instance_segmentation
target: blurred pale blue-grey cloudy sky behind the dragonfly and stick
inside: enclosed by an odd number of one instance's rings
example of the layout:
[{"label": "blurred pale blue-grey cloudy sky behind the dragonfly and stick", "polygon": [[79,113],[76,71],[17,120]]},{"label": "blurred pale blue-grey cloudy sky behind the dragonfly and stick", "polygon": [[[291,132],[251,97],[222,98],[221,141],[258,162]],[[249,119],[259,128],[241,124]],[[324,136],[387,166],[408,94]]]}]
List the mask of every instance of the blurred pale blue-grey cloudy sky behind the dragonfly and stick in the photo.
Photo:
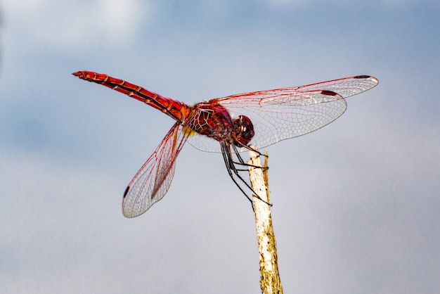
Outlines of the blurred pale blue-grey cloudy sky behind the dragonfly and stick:
[{"label": "blurred pale blue-grey cloudy sky behind the dragonfly and stick", "polygon": [[186,103],[373,75],[269,146],[285,293],[440,288],[439,1],[0,1],[0,293],[259,293],[250,203],[188,144],[167,195],[122,193],[174,123],[70,75]]}]

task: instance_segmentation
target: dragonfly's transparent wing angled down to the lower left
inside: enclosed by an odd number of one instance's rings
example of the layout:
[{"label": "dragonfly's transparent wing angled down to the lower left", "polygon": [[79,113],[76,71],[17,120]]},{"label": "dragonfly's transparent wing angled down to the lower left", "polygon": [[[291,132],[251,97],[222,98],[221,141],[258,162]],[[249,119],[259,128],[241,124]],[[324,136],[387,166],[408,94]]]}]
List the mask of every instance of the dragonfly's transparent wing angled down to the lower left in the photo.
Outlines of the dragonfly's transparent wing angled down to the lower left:
[{"label": "dragonfly's transparent wing angled down to the lower left", "polygon": [[176,122],[164,137],[155,152],[143,164],[131,180],[122,200],[122,213],[125,217],[137,217],[162,199],[171,185],[176,158],[188,139]]}]

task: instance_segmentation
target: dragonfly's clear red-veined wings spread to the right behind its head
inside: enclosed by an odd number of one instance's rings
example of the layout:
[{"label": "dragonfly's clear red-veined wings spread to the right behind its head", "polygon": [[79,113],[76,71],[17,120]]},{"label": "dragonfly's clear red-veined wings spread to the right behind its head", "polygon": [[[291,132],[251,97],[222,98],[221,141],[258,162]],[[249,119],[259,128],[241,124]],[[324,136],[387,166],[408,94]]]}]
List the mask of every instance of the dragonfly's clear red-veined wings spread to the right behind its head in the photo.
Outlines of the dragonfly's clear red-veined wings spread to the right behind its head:
[{"label": "dragonfly's clear red-veined wings spread to the right behind its head", "polygon": [[[236,94],[209,102],[221,104],[232,117],[249,117],[255,132],[250,143],[264,148],[324,127],[344,113],[347,108],[344,98],[367,91],[377,83],[375,77],[362,75],[300,87]],[[190,138],[190,144],[202,151],[221,151],[218,142],[200,137]],[[243,148],[240,151],[244,151]]]}]

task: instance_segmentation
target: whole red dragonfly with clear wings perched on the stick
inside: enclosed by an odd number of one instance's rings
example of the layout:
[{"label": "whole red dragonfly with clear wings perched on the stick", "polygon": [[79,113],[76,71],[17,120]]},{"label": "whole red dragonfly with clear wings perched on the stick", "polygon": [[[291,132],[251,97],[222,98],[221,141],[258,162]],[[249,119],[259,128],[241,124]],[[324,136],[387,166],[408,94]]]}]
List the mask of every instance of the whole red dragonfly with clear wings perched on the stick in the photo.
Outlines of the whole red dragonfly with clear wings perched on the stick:
[{"label": "whole red dragonfly with clear wings perched on the stick", "polygon": [[122,201],[125,217],[137,217],[163,198],[174,176],[177,155],[186,141],[202,151],[221,152],[228,173],[247,196],[234,178],[238,177],[250,188],[235,166],[246,165],[240,152],[252,150],[250,144],[264,148],[320,129],[344,113],[345,98],[378,83],[375,77],[358,75],[300,87],[235,94],[189,106],[97,72],[82,70],[72,75],[127,94],[176,120],[127,186]]}]

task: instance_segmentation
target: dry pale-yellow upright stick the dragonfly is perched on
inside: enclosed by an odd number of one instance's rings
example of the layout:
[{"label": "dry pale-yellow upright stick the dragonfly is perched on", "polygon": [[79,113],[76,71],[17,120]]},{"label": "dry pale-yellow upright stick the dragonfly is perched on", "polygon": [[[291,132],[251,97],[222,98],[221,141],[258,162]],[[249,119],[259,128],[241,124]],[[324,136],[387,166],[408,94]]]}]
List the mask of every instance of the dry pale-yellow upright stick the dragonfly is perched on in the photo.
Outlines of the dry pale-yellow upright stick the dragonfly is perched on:
[{"label": "dry pale-yellow upright stick the dragonfly is perched on", "polygon": [[[257,150],[256,146],[251,146]],[[250,182],[252,189],[258,193],[259,198],[269,202],[268,192],[268,174],[267,174],[267,151],[264,152],[264,165],[261,165],[259,153],[250,151],[250,165],[257,167],[249,167]],[[261,168],[263,167],[263,168]],[[259,251],[260,264],[260,287],[261,292],[266,293],[283,293],[281,286],[280,273],[278,272],[278,257],[276,253],[275,234],[273,233],[271,207],[261,201],[257,197],[253,197],[255,224],[257,226],[257,241]]]}]

